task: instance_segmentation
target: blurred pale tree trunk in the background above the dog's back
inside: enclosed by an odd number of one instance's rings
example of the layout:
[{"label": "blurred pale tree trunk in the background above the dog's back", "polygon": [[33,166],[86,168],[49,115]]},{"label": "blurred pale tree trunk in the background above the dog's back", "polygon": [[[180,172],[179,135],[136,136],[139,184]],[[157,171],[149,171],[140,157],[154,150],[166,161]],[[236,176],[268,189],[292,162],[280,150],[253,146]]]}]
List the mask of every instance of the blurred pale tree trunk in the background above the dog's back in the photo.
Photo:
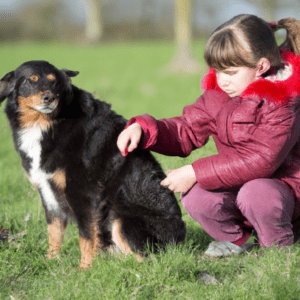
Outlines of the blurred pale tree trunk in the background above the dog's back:
[{"label": "blurred pale tree trunk in the background above the dog's back", "polygon": [[98,43],[103,34],[100,1],[85,0],[85,13],[85,37],[89,43]]}]

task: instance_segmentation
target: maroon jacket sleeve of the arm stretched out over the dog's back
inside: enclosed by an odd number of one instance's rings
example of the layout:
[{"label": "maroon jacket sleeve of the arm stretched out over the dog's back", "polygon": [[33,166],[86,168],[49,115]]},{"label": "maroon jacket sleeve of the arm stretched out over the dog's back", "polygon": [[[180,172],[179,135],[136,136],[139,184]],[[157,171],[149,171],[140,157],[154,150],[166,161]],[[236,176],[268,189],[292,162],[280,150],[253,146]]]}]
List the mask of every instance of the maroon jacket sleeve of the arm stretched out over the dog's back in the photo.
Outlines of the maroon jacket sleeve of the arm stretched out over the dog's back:
[{"label": "maroon jacket sleeve of the arm stretched out over the dog's back", "polygon": [[208,141],[215,126],[205,109],[205,95],[195,104],[186,106],[181,117],[156,120],[149,115],[134,117],[127,127],[139,123],[143,129],[140,146],[169,156],[186,157]]}]

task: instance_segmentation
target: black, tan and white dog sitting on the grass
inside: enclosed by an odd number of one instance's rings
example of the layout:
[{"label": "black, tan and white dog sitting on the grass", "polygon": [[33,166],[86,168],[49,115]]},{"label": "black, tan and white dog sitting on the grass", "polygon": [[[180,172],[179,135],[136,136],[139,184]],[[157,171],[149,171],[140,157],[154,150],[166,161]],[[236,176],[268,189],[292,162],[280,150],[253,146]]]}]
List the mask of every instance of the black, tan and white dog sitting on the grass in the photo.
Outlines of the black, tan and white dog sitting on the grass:
[{"label": "black, tan and white dog sitting on the grass", "polygon": [[160,185],[158,162],[139,149],[120,154],[126,120],[73,86],[77,74],[30,61],[0,81],[15,148],[45,208],[48,257],[58,255],[68,219],[79,228],[79,268],[89,267],[99,248],[142,259],[147,243],[183,242],[185,223],[174,194]]}]

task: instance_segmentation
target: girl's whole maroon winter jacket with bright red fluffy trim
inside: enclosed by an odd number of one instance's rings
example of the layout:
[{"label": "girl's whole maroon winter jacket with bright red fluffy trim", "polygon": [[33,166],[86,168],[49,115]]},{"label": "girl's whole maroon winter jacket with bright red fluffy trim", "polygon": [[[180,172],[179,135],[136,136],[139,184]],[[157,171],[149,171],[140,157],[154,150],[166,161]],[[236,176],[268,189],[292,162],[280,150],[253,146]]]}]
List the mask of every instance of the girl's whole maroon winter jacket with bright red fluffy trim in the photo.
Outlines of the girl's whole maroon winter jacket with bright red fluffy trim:
[{"label": "girl's whole maroon winter jacket with bright red fluffy trim", "polygon": [[283,52],[282,58],[292,66],[285,80],[260,78],[231,98],[211,69],[202,80],[204,94],[186,106],[181,117],[155,120],[142,115],[127,126],[135,122],[142,126],[142,148],[181,157],[205,145],[211,135],[218,154],[192,164],[204,189],[277,178],[300,199],[300,57]]}]

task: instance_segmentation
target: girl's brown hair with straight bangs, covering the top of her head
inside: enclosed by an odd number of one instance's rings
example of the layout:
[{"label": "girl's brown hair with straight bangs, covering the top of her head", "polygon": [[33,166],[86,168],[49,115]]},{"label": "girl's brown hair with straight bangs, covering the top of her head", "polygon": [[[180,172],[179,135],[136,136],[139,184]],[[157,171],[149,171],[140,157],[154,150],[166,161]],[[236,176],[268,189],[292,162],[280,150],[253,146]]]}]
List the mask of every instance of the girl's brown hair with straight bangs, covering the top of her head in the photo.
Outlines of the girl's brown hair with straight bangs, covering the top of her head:
[{"label": "girl's brown hair with straight bangs, covering the top of her head", "polygon": [[[299,25],[298,20],[293,20]],[[289,30],[285,23],[281,20],[273,29],[286,28],[288,40]],[[219,26],[211,34],[204,51],[208,66],[218,71],[240,66],[254,68],[263,57],[270,61],[272,67],[282,67],[271,26],[263,19],[248,14],[238,15]]]}]

